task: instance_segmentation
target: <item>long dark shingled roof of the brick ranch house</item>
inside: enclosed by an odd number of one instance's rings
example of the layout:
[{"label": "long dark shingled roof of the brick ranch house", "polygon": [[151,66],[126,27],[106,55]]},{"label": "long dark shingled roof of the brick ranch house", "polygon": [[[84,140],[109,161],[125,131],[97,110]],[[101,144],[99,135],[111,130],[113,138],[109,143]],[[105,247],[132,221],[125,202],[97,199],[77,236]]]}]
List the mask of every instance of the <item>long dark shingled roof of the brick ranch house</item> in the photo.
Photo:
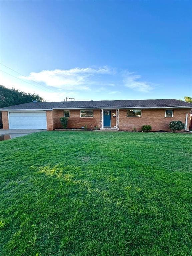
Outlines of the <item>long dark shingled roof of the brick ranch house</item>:
[{"label": "long dark shingled roof of the brick ranch house", "polygon": [[30,102],[1,108],[0,110],[49,110],[75,108],[192,108],[192,103],[175,99],[163,100],[93,100],[62,102]]}]

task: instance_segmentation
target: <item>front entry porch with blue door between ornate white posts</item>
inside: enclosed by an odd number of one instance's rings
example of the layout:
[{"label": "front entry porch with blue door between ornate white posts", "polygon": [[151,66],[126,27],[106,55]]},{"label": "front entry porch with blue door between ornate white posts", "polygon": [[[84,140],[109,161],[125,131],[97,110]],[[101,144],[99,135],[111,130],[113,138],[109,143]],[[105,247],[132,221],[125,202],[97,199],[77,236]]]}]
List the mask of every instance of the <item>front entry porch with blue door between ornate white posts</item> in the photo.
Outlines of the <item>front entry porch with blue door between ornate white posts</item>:
[{"label": "front entry porch with blue door between ornate white posts", "polygon": [[119,130],[119,109],[101,109],[100,130]]}]

